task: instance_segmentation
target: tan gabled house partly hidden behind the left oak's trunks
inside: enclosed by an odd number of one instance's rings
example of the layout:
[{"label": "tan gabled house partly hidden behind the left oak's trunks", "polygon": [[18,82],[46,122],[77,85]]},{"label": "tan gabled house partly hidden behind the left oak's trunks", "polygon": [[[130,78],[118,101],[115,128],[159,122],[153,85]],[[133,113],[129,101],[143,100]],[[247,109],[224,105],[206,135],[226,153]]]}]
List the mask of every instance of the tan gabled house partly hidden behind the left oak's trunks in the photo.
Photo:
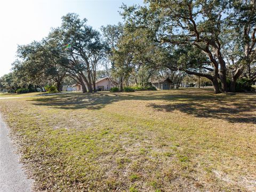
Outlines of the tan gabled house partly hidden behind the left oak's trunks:
[{"label": "tan gabled house partly hidden behind the left oak's trunks", "polygon": [[[85,85],[86,86],[86,85]],[[96,90],[97,91],[108,91],[111,87],[114,87],[115,84],[113,84],[109,77],[100,78],[95,82]],[[72,85],[74,91],[82,91],[82,85],[79,83],[76,83]],[[86,86],[86,89],[88,90],[88,87]]]}]

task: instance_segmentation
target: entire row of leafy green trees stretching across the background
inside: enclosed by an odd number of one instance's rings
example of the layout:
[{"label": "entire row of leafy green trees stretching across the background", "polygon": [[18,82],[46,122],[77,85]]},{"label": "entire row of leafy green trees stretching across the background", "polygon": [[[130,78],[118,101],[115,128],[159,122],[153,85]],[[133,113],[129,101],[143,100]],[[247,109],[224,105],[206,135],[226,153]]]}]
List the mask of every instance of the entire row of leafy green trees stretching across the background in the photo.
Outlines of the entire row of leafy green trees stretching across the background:
[{"label": "entire row of leafy green trees stretching across the background", "polygon": [[54,84],[61,91],[66,81],[95,92],[97,77],[106,75],[121,91],[159,77],[171,78],[178,88],[187,75],[207,79],[215,93],[235,92],[241,82],[255,84],[255,0],[147,0],[143,6],[123,5],[121,15],[123,23],[101,31],[75,13],[63,16],[47,37],[18,46],[0,89]]}]

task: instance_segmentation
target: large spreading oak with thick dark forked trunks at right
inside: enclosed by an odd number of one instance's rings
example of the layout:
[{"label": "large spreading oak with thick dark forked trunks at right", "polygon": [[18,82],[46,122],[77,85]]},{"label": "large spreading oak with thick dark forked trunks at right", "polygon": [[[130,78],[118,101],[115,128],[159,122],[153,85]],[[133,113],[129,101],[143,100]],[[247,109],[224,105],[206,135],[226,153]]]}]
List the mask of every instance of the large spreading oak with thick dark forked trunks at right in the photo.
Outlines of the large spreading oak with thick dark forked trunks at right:
[{"label": "large spreading oak with thick dark forked trunks at right", "polygon": [[[215,93],[220,92],[218,79],[221,81],[222,91],[228,91],[225,49],[234,42],[234,38],[231,39],[230,36],[237,35],[242,41],[239,45],[245,50],[244,57],[236,62],[231,85],[242,74],[248,58],[246,55],[255,52],[254,1],[148,0],[143,7],[123,6],[123,10],[126,25],[150,29],[154,41],[162,46],[192,45],[192,49],[204,52],[210,62],[205,62],[203,67],[209,70],[202,73],[196,65],[194,70],[190,70],[190,67],[186,72],[209,78]],[[236,24],[244,33],[235,33]],[[234,86],[230,90],[233,88]]]}]

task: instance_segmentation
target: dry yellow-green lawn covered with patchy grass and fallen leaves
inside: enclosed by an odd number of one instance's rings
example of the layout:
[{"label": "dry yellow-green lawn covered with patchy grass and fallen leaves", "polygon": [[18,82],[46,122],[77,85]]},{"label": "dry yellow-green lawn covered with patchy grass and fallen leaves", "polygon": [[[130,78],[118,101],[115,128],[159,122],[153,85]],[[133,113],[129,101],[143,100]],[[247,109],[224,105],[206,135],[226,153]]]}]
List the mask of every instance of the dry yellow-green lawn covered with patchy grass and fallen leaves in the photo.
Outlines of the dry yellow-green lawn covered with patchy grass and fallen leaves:
[{"label": "dry yellow-green lawn covered with patchy grass and fallen leaves", "polygon": [[36,191],[255,191],[255,96],[64,93],[0,110]]}]

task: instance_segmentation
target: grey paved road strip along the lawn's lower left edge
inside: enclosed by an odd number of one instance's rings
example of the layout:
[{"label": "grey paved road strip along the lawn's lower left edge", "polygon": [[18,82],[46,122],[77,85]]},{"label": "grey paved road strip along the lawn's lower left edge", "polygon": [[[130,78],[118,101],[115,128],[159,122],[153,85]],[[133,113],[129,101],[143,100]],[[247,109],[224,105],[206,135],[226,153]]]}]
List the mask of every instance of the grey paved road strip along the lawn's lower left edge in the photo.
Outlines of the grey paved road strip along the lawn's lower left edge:
[{"label": "grey paved road strip along the lawn's lower left edge", "polygon": [[19,155],[9,137],[9,129],[0,114],[0,192],[31,191],[32,179],[27,179],[19,163]]}]

